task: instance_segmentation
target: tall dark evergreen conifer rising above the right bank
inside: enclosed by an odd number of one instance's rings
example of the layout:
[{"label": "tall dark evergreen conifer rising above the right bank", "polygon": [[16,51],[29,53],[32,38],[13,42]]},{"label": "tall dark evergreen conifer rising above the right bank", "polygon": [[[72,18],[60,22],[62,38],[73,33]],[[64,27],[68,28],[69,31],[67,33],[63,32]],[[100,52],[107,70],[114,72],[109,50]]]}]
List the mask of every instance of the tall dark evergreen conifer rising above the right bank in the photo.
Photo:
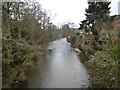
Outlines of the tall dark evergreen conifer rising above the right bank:
[{"label": "tall dark evergreen conifer rising above the right bank", "polygon": [[[103,2],[102,2],[103,1]],[[103,22],[105,22],[110,13],[110,1],[102,0],[89,0],[88,8],[85,10],[86,20],[83,20],[80,24],[80,28],[84,27],[85,30],[91,31],[94,35],[94,44],[97,46],[99,35]]]}]

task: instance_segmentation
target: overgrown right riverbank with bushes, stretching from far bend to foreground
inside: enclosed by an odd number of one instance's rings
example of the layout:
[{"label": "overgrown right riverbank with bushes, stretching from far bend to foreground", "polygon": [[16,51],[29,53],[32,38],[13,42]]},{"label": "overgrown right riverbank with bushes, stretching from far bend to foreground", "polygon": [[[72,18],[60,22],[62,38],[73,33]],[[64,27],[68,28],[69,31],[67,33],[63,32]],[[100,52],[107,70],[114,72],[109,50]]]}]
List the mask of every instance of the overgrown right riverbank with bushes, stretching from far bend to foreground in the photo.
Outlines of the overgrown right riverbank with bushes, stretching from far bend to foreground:
[{"label": "overgrown right riverbank with bushes, stretching from far bend to foreground", "polygon": [[[75,37],[75,36],[74,36]],[[81,45],[80,39],[72,41],[72,46],[81,50],[79,58],[90,75],[91,88],[118,88],[119,79],[119,50],[120,44],[101,45],[95,50],[94,45]]]}]

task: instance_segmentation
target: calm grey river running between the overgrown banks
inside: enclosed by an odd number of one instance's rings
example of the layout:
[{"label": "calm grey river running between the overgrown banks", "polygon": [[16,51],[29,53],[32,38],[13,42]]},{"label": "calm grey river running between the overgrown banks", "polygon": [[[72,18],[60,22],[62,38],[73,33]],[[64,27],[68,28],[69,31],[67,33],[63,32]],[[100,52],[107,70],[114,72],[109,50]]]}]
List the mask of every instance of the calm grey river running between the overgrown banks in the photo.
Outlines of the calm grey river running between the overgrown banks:
[{"label": "calm grey river running between the overgrown banks", "polygon": [[51,50],[47,60],[38,61],[36,69],[29,74],[24,88],[87,88],[89,75],[72,51],[66,38],[55,40],[48,46]]}]

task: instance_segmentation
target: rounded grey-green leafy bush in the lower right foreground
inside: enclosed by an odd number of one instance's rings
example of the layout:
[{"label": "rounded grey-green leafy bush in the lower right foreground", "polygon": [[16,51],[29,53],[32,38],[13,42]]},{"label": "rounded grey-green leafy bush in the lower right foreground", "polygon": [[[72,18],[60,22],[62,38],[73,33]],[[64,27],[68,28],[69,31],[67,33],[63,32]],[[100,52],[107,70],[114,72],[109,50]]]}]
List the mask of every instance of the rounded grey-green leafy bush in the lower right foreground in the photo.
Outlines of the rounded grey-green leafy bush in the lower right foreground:
[{"label": "rounded grey-green leafy bush in the lower right foreground", "polygon": [[86,65],[91,76],[92,87],[118,87],[118,66],[109,54],[97,51]]}]

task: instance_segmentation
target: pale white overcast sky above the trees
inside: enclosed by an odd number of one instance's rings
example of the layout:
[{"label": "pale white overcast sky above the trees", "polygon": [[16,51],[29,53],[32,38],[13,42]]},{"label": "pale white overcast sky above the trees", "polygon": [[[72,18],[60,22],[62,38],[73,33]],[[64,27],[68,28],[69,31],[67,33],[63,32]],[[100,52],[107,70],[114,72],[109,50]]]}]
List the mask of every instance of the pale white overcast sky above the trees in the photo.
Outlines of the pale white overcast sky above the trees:
[{"label": "pale white overcast sky above the trees", "polygon": [[[88,7],[87,0],[37,0],[42,8],[50,10],[53,24],[59,25],[64,22],[74,22],[79,26],[80,21],[85,19],[85,8]],[[110,0],[111,15],[118,14],[118,2]]]}]

